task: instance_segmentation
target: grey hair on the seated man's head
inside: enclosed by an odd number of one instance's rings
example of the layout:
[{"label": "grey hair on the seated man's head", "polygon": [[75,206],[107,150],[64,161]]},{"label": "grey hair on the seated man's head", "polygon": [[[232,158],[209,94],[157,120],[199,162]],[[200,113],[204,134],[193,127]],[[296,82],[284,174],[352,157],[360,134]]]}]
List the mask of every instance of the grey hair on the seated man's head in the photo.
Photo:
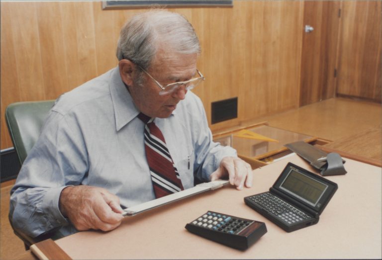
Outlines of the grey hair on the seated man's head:
[{"label": "grey hair on the seated man's head", "polygon": [[160,46],[174,53],[200,53],[199,40],[186,17],[165,10],[134,15],[121,29],[118,60],[127,59],[148,69]]}]

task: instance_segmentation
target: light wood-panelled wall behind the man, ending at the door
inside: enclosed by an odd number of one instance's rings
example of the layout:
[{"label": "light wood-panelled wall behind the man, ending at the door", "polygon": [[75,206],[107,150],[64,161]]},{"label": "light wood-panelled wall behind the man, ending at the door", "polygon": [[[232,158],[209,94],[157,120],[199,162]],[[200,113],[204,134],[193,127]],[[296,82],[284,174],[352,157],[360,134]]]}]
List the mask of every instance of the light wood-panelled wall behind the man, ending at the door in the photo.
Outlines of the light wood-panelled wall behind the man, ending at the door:
[{"label": "light wood-panelled wall behind the man, ending at the door", "polygon": [[[2,35],[12,42],[1,44],[2,114],[11,102],[56,98],[117,65],[121,26],[147,9],[101,10],[100,4],[1,2]],[[208,121],[211,102],[239,99],[238,118],[214,124],[212,131],[297,106],[301,6],[299,1],[238,0],[228,8],[170,9],[186,15],[199,36],[198,68],[206,81],[194,92]],[[3,122],[1,117],[1,148],[6,148]]]}]

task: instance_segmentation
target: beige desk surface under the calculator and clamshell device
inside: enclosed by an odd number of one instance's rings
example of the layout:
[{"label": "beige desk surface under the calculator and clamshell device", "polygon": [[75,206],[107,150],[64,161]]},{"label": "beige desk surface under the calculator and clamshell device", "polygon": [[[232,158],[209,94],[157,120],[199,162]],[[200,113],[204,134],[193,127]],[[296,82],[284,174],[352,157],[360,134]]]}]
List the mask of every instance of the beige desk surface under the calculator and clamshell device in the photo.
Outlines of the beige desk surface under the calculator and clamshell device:
[{"label": "beige desk surface under the calculator and clamshell device", "polygon": [[[254,186],[224,187],[134,217],[111,232],[87,231],[56,243],[72,259],[381,259],[381,168],[347,160],[346,175],[318,224],[291,233],[244,204],[244,196],[267,191],[292,162],[313,171],[298,156],[254,171]],[[238,251],[189,233],[185,225],[208,210],[263,221],[266,233]]]}]

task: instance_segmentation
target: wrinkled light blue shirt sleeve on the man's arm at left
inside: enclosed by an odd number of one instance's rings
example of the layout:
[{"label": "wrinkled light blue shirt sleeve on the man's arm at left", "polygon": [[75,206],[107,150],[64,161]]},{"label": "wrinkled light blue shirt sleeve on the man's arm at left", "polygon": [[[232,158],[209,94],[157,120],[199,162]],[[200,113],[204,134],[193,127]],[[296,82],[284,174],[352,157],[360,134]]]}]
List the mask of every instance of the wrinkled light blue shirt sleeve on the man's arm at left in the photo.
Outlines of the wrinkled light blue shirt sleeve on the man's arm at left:
[{"label": "wrinkled light blue shirt sleeve on the man's arm at left", "polygon": [[31,237],[68,224],[59,210],[61,191],[80,184],[87,172],[80,128],[75,119],[70,121],[56,111],[50,112],[11,190],[12,226]]}]

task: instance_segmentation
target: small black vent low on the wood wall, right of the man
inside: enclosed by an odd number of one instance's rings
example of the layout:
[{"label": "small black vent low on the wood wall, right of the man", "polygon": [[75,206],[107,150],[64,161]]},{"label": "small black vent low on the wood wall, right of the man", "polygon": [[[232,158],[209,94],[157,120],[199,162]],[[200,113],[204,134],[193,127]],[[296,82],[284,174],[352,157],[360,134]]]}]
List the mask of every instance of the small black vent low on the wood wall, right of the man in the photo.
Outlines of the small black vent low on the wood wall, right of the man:
[{"label": "small black vent low on the wood wall, right of the man", "polygon": [[211,124],[237,118],[237,97],[211,103]]}]

